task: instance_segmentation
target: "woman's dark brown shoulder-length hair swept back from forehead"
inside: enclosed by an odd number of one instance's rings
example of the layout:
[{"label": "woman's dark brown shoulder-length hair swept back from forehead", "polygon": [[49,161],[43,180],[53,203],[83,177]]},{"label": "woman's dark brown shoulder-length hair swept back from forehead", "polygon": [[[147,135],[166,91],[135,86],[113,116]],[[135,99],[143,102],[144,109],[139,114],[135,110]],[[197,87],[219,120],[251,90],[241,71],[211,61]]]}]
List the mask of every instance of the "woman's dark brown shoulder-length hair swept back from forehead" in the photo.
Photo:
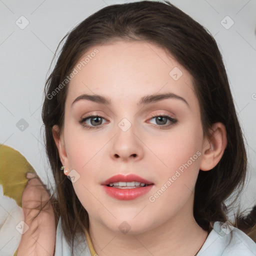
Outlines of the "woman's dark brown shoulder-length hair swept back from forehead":
[{"label": "woman's dark brown shoulder-length hair swept back from forehead", "polygon": [[[197,223],[208,230],[210,223],[226,221],[231,204],[226,205],[224,200],[236,191],[235,200],[244,184],[247,158],[243,135],[222,56],[214,38],[203,26],[168,1],[106,6],[79,23],[60,41],[64,44],[44,90],[42,120],[46,152],[56,184],[54,209],[61,216],[62,228],[71,247],[75,233],[88,227],[88,214],[78,200],[72,183],[60,171],[62,164],[52,135],[54,124],[59,126],[59,132],[62,131],[68,84],[55,96],[48,95],[52,95],[52,91],[70,74],[90,47],[116,40],[144,40],[165,48],[193,76],[204,135],[210,139],[210,128],[215,122],[225,125],[227,146],[222,158],[212,170],[199,170],[193,206]],[[249,229],[246,231],[249,233]]]}]

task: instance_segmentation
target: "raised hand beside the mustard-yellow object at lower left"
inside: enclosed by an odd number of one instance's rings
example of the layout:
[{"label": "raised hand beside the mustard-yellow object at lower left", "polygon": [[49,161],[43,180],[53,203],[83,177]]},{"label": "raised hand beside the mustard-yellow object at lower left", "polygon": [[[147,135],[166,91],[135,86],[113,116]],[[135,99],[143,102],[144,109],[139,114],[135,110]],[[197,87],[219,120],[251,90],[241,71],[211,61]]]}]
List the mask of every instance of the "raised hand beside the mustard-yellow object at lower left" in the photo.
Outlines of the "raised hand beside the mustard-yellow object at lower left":
[{"label": "raised hand beside the mustard-yellow object at lower left", "polygon": [[[24,222],[29,228],[22,234],[17,256],[53,256],[56,227],[50,196],[35,173],[27,173],[27,178],[29,180],[22,193],[22,209]],[[43,209],[39,212],[41,207]]]}]

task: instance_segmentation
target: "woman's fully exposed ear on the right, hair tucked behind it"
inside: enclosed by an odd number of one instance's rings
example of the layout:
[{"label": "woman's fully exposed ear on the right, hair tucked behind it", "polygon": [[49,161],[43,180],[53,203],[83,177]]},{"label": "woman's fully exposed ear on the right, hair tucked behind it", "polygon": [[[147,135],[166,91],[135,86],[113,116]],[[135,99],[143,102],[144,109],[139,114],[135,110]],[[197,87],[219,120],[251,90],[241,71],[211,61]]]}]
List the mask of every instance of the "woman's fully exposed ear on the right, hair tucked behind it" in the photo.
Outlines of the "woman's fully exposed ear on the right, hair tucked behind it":
[{"label": "woman's fully exposed ear on the right, hair tucked behind it", "polygon": [[204,138],[200,170],[210,170],[221,159],[227,144],[225,125],[216,122],[212,125],[210,138]]}]

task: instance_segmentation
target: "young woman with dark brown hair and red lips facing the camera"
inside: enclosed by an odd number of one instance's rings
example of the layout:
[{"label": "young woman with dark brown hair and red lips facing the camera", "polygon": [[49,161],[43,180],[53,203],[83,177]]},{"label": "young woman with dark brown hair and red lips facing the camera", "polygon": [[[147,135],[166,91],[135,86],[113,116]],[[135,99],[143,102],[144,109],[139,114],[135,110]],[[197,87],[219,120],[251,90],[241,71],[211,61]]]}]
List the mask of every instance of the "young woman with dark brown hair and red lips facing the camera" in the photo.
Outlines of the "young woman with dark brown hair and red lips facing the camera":
[{"label": "young woman with dark brown hair and red lips facing the camera", "polygon": [[167,1],[139,1],[64,39],[42,109],[55,255],[255,255],[227,218],[246,153],[214,38]]}]

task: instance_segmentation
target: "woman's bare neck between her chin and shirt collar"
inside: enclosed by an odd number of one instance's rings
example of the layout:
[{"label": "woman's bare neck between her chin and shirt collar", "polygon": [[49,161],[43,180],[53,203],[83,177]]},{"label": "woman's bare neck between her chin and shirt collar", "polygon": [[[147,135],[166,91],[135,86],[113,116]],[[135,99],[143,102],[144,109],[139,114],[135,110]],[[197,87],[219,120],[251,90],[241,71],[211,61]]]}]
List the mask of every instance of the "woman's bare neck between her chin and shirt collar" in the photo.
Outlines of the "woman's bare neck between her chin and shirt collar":
[{"label": "woman's bare neck between her chin and shirt collar", "polygon": [[192,212],[181,210],[156,228],[135,234],[115,232],[90,218],[89,235],[98,256],[194,256],[207,231],[196,223]]}]

